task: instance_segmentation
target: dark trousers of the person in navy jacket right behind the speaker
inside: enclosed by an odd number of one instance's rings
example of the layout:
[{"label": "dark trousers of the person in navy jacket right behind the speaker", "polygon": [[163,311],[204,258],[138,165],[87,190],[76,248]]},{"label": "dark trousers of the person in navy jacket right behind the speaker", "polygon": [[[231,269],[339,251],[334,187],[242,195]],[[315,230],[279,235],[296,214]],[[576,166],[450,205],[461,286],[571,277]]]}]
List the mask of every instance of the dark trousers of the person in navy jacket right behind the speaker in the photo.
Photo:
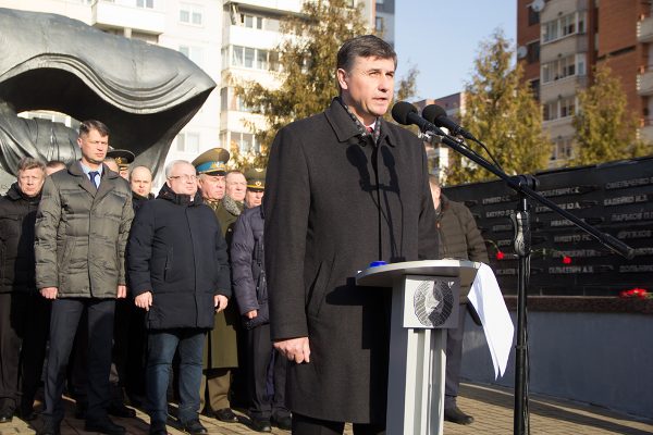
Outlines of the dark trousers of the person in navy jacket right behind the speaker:
[{"label": "dark trousers of the person in navy jacket right behind the speaker", "polygon": [[260,325],[247,331],[247,345],[250,417],[266,420],[271,417],[288,417],[291,412],[285,405],[288,361],[272,347],[270,325]]}]

